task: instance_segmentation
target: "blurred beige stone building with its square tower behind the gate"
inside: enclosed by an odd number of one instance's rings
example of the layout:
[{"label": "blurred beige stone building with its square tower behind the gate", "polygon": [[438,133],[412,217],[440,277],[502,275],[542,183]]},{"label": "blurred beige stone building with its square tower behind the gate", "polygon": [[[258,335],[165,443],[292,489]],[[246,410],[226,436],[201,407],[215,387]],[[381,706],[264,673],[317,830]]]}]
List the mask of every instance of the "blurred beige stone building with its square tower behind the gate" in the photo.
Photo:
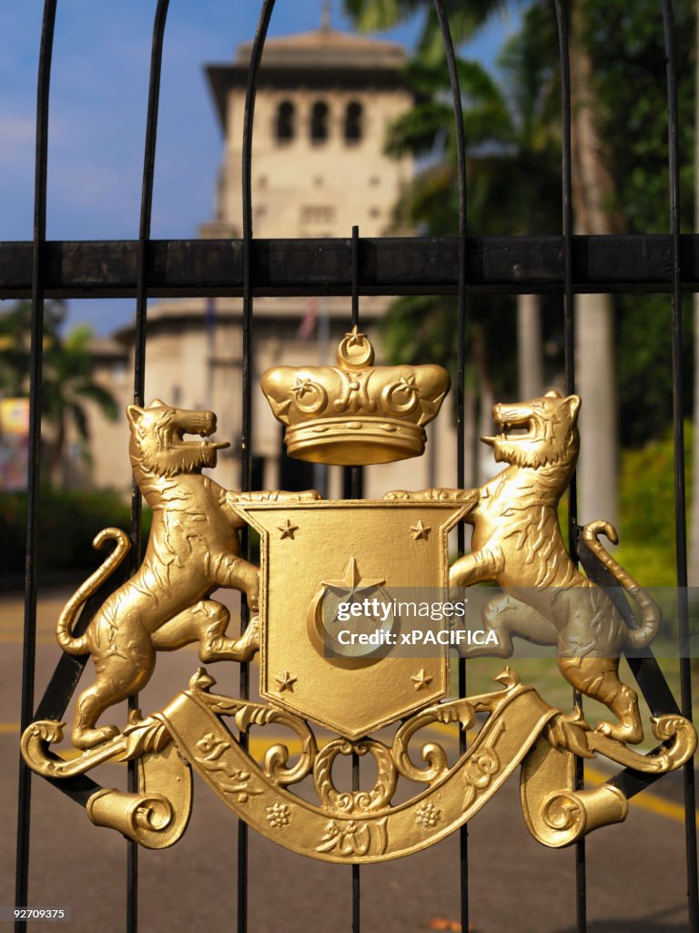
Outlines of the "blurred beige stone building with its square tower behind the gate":
[{"label": "blurred beige stone building with its square tower behind the gate", "polygon": [[[224,157],[212,221],[202,237],[240,237],[241,160],[245,87],[251,45],[240,46],[231,64],[206,68],[224,134]],[[363,237],[386,235],[401,187],[409,180],[409,158],[384,155],[386,129],[413,103],[402,66],[404,49],[395,43],[336,32],[327,21],[316,31],[270,38],[258,77],[254,112],[254,237],[349,237],[358,224]],[[392,230],[395,232],[395,230]],[[362,299],[363,328],[377,343],[377,319],[389,299]],[[241,398],[240,299],[177,299],[148,309],[146,401],[160,397],[184,408],[211,408],[219,415],[217,437],[232,440],[221,452],[216,479],[239,488]],[[326,472],[286,456],[282,432],[267,403],[258,396],[260,375],[269,367],[327,364],[349,329],[347,298],[254,301],[254,488],[315,486],[342,497],[340,467]],[[126,371],[133,331],[103,341],[103,375],[124,405],[129,386],[117,384],[115,346],[123,348]],[[380,353],[380,348],[379,353]],[[453,446],[448,414],[434,425]],[[94,419],[94,476],[101,485],[125,488],[126,427]],[[436,480],[435,464],[448,454],[430,453],[420,461],[369,467],[365,494],[390,488],[418,488]],[[443,440],[439,441],[440,448]],[[432,466],[431,466],[432,465]],[[378,470],[378,472],[375,472]]]}]

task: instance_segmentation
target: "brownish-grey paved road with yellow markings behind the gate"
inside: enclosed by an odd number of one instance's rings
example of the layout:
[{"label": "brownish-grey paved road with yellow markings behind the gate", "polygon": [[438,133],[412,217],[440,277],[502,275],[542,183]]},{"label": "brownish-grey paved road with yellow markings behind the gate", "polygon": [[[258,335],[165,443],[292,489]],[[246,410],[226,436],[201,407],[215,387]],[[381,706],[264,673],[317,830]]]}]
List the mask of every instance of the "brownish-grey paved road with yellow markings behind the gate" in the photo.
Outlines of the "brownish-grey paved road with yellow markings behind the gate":
[{"label": "brownish-grey paved road with yellow markings behind the gate", "polygon": [[[39,606],[37,697],[59,657],[52,627],[65,595],[50,593]],[[10,905],[21,679],[17,599],[0,601],[0,641],[0,815],[5,827],[0,834],[0,905]],[[167,703],[197,665],[191,648],[161,656],[155,682],[142,695],[144,711]],[[232,670],[219,666],[212,673],[220,675],[222,691],[234,692]],[[602,779],[597,763],[590,777]],[[123,787],[124,769],[105,767],[97,779]],[[632,801],[624,825],[590,837],[590,933],[679,933],[688,928],[680,799],[678,779],[671,775],[652,794],[645,792]],[[73,919],[30,929],[123,930],[126,853],[121,838],[93,827],[74,802],[38,778],[32,827],[30,899],[36,906],[69,906]],[[472,923],[478,933],[574,929],[574,853],[548,850],[531,839],[515,779],[471,822],[469,851]],[[458,856],[458,838],[451,837],[418,856],[363,868],[365,933],[458,929]],[[295,856],[252,832],[249,870],[251,933],[349,930],[349,867]],[[194,815],[185,838],[164,852],[142,850],[139,871],[144,933],[235,929],[236,820],[206,787],[195,786]]]}]

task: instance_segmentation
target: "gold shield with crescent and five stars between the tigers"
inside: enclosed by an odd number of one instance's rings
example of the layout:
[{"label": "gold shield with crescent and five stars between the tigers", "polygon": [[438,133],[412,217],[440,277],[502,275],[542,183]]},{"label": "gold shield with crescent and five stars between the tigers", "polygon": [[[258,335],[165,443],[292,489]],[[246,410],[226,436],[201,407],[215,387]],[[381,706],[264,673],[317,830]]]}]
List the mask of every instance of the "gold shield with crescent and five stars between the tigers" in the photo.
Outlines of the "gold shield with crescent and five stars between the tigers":
[{"label": "gold shield with crescent and five stars between the tigers", "polygon": [[[326,588],[446,587],[453,502],[239,503],[261,536],[260,693],[357,739],[449,692],[448,648],[431,657],[326,657]],[[348,629],[351,628],[348,622]],[[426,652],[427,653],[427,652]]]}]

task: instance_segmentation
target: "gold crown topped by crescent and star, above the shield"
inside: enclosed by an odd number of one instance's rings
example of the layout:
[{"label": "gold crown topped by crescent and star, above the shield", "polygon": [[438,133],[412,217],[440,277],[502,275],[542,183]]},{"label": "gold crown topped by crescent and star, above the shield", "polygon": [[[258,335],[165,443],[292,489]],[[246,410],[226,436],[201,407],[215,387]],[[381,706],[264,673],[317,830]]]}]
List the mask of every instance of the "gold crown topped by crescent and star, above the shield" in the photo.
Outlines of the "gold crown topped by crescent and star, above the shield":
[{"label": "gold crown topped by crescent and star, above the shield", "polygon": [[423,425],[449,391],[441,366],[373,366],[374,347],[352,327],[335,366],[279,366],[261,380],[275,418],[287,425],[289,456],[312,463],[360,466],[417,457]]}]

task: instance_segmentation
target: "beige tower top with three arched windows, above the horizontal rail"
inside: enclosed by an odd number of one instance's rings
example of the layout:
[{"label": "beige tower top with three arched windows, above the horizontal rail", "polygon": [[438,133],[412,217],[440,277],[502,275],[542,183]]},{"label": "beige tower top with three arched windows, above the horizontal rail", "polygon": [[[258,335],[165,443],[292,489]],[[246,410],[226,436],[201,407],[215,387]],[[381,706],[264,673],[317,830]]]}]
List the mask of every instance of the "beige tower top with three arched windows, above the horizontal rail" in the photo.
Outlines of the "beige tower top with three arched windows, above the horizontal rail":
[{"label": "beige tower top with three arched windows, above the horizontal rail", "polygon": [[[216,218],[204,235],[240,236],[243,110],[252,46],[206,69],[224,134]],[[256,237],[384,235],[409,159],[383,153],[386,128],[413,103],[404,49],[321,29],[270,38],[258,80],[253,134]]]}]

